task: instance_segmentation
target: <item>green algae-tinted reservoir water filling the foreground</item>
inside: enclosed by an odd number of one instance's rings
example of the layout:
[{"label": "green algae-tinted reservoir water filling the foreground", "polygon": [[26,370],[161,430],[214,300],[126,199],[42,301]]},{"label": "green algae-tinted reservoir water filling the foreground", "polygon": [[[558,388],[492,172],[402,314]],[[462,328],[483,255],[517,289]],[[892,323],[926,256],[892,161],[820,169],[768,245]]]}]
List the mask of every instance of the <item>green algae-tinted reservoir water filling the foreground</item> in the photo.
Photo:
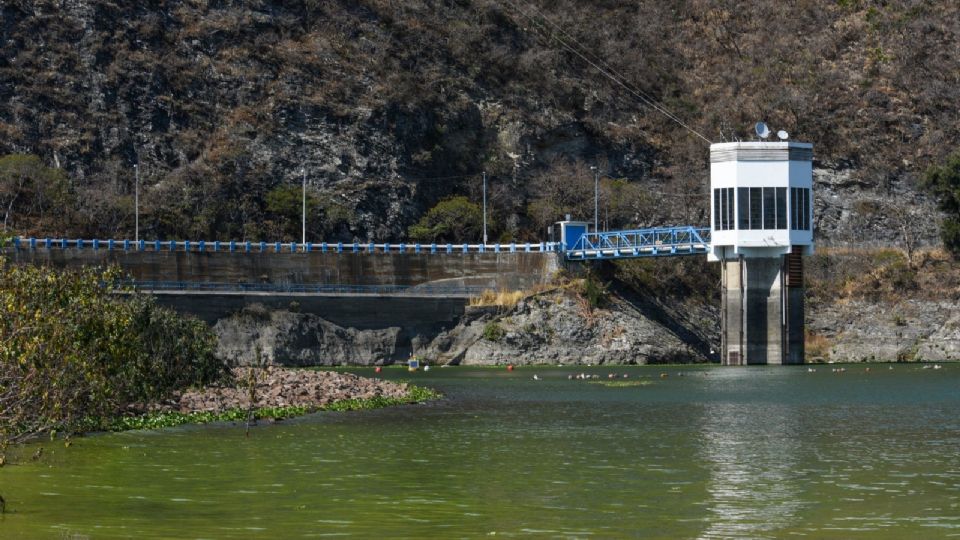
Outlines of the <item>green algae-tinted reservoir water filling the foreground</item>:
[{"label": "green algae-tinted reservoir water filling the foreground", "polygon": [[447,397],[22,448],[0,537],[960,536],[960,366],[887,368],[388,369]]}]

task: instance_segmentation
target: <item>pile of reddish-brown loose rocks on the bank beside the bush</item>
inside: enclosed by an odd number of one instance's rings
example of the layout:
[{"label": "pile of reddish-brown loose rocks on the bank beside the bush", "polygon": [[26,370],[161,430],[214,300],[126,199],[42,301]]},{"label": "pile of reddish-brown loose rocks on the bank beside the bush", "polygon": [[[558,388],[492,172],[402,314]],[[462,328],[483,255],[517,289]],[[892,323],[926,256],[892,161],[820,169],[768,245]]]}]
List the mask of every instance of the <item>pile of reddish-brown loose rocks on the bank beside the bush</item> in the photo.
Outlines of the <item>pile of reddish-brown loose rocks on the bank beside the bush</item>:
[{"label": "pile of reddish-brown loose rocks on the bank beside the bush", "polygon": [[[350,373],[267,366],[233,368],[229,382],[188,390],[161,409],[183,413],[250,407],[320,407],[344,399],[402,398],[406,384],[359,377]],[[251,386],[253,390],[251,391]]]}]

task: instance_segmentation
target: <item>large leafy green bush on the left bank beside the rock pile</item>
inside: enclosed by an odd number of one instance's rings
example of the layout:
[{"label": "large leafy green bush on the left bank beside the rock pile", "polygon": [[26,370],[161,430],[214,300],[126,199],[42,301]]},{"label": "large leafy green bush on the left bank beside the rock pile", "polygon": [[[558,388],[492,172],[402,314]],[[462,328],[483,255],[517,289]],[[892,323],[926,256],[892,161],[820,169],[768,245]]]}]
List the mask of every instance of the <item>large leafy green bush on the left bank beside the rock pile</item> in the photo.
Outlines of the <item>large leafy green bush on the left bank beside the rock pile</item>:
[{"label": "large leafy green bush on the left bank beside the rock pile", "polygon": [[223,373],[204,323],[119,293],[116,269],[0,268],[0,440],[81,430]]}]

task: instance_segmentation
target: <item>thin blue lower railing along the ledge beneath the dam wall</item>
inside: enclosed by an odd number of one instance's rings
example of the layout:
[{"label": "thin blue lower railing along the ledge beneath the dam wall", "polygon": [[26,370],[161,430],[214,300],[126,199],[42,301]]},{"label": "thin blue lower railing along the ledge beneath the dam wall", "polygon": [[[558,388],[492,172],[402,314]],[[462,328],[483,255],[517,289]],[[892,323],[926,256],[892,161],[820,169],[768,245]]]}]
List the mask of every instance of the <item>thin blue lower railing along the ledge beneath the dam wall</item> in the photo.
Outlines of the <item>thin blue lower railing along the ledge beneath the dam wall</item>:
[{"label": "thin blue lower railing along the ledge beneath the dam wall", "polygon": [[477,296],[490,287],[473,285],[340,285],[312,283],[226,283],[212,281],[127,281],[120,285],[142,291],[269,292],[306,294],[369,294],[380,296]]}]

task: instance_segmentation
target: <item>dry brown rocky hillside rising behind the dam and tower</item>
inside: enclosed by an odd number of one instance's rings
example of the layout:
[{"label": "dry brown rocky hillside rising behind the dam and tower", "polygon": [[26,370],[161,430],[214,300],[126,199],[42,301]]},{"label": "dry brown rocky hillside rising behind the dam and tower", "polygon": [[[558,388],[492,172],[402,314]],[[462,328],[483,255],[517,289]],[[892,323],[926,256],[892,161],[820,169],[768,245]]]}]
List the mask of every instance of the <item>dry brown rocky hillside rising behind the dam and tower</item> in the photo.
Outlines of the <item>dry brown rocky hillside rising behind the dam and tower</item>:
[{"label": "dry brown rocky hillside rising behind the dam and tower", "polygon": [[4,177],[24,234],[130,236],[137,163],[146,237],[298,238],[305,174],[312,239],[399,240],[486,170],[495,237],[539,238],[592,214],[593,164],[623,179],[610,226],[706,224],[706,142],[573,50],[711,141],[813,142],[823,243],[936,242],[916,181],[960,135],[950,2],[8,0],[0,23],[0,155],[61,175]]}]

